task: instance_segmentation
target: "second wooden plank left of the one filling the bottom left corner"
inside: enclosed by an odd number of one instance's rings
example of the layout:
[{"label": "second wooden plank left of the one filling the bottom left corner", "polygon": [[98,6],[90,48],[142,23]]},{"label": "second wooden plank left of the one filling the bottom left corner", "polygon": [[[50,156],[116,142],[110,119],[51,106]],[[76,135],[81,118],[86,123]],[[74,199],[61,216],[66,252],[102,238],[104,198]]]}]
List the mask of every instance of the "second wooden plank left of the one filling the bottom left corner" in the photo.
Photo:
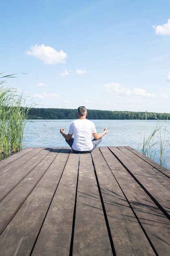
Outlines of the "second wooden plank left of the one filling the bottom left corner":
[{"label": "second wooden plank left of the one filling the bottom left corner", "polygon": [[44,157],[46,157],[46,155],[49,154],[50,151],[42,150],[41,148],[41,150],[38,149],[35,152],[36,155],[32,155],[31,159],[27,159],[27,157],[30,156],[28,153],[26,154],[25,160],[20,159],[17,162],[17,164],[15,163],[17,165],[17,169],[15,169],[15,164],[14,167],[12,167],[11,164],[10,168],[13,168],[13,170],[15,171],[11,173],[10,176],[0,181],[0,202],[3,200],[5,196],[7,196],[12,191],[12,189],[15,188],[15,186],[17,186],[37,166],[37,164],[39,164],[42,161],[42,159],[44,159]]}]

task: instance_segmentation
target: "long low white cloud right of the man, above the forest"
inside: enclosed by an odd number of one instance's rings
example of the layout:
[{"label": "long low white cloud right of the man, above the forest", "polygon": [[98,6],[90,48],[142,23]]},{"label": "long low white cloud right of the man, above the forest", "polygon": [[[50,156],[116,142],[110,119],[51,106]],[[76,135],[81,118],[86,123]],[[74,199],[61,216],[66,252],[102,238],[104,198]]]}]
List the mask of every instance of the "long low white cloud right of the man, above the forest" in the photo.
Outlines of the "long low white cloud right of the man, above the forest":
[{"label": "long low white cloud right of the man, above the forest", "polygon": [[154,98],[155,94],[147,93],[144,89],[134,88],[129,90],[127,88],[122,88],[119,83],[109,83],[104,85],[107,92],[113,92],[114,95],[130,96],[136,95],[144,98]]}]

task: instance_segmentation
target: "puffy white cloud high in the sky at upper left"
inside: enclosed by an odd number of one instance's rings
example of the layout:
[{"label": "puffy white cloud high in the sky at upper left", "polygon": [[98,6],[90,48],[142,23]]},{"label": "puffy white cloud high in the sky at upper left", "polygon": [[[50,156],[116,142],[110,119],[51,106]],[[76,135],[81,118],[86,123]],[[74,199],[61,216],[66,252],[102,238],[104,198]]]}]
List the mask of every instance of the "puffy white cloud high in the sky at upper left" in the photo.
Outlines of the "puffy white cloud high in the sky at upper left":
[{"label": "puffy white cloud high in the sky at upper left", "polygon": [[31,50],[26,51],[26,54],[44,61],[44,64],[50,65],[65,63],[65,58],[67,58],[67,54],[63,50],[57,52],[54,48],[45,45],[31,46]]}]

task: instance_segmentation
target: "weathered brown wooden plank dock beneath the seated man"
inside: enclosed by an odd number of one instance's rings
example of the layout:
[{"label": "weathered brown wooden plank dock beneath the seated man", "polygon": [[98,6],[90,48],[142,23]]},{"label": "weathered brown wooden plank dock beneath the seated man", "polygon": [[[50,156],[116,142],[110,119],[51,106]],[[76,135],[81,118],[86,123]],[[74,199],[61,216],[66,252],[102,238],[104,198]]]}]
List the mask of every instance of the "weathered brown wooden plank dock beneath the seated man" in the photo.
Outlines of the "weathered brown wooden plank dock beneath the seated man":
[{"label": "weathered brown wooden plank dock beneath the seated man", "polygon": [[170,256],[170,171],[133,148],[0,162],[0,256]]}]

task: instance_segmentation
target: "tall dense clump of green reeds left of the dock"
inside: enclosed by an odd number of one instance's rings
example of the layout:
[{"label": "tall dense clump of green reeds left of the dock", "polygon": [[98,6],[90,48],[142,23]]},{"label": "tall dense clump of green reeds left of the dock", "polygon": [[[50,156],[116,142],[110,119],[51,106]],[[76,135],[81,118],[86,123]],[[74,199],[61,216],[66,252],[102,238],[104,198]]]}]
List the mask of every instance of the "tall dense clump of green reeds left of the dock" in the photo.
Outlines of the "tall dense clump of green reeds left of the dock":
[{"label": "tall dense clump of green reeds left of the dock", "polygon": [[2,79],[7,77],[14,76],[0,77],[0,160],[22,150],[27,114],[33,105],[16,89],[4,87],[6,81]]}]

